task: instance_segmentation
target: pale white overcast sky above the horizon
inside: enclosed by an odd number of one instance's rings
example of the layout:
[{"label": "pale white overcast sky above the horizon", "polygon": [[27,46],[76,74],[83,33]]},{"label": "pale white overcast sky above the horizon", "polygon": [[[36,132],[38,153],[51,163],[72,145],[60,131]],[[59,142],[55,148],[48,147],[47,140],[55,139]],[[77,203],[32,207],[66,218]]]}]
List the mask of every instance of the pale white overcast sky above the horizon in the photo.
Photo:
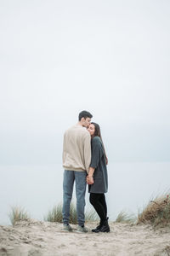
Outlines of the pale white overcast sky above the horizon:
[{"label": "pale white overcast sky above the horizon", "polygon": [[0,163],[61,161],[87,109],[110,161],[170,160],[169,1],[0,1]]}]

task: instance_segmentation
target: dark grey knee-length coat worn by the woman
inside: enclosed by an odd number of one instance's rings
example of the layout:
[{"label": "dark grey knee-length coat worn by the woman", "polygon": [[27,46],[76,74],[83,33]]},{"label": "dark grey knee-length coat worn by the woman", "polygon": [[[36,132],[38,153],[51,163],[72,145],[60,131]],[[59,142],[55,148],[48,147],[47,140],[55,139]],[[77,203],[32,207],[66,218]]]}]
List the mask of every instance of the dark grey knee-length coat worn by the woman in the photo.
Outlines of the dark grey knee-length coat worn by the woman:
[{"label": "dark grey knee-length coat worn by the woman", "polygon": [[103,143],[100,137],[94,137],[91,140],[92,156],[90,167],[94,170],[94,184],[88,185],[89,193],[103,194],[108,189],[107,167],[105,163],[105,154]]}]

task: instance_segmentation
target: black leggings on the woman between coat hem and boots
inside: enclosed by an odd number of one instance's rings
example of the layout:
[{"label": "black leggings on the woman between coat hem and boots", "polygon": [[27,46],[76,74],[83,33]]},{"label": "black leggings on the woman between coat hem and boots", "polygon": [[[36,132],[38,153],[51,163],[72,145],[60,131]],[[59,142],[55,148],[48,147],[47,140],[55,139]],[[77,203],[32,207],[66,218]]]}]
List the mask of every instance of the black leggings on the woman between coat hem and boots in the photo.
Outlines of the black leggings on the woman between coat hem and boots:
[{"label": "black leggings on the woman between coat hem and boots", "polygon": [[90,193],[90,203],[99,215],[101,221],[107,218],[107,205],[105,202],[105,194]]}]

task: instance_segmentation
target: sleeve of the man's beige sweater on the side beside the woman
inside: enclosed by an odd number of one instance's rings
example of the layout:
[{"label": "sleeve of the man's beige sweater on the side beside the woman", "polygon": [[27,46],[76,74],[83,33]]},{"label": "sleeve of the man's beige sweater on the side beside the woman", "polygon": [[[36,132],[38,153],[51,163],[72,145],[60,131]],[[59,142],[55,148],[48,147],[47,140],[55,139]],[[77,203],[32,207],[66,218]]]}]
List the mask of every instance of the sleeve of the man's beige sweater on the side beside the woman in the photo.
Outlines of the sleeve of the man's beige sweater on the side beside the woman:
[{"label": "sleeve of the man's beige sweater on the side beside the woman", "polygon": [[90,134],[87,132],[84,137],[84,164],[86,167],[86,171],[88,172],[90,161],[91,161],[91,137]]}]

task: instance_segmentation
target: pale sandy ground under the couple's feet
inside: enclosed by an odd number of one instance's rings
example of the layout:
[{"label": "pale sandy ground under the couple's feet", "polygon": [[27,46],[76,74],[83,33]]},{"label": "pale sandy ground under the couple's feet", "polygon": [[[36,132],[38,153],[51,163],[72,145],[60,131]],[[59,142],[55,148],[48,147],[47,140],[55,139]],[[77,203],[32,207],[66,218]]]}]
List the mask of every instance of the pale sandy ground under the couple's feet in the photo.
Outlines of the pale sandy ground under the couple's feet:
[{"label": "pale sandy ground under the couple's feet", "polygon": [[170,230],[153,230],[150,225],[110,223],[110,233],[62,230],[62,224],[29,219],[14,227],[0,226],[0,255],[170,255]]}]

